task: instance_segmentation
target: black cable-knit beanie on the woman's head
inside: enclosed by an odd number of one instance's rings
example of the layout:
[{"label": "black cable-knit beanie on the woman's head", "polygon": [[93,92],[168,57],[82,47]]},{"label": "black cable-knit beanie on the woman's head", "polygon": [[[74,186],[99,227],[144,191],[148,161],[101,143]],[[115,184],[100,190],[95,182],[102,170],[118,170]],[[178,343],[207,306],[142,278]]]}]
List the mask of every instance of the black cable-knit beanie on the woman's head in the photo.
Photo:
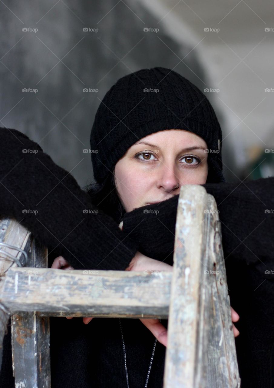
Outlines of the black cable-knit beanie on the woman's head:
[{"label": "black cable-knit beanie on the woman's head", "polygon": [[131,145],[166,129],[202,137],[209,151],[207,183],[225,182],[222,131],[209,100],[186,78],[160,67],[130,73],[105,94],[90,135],[95,180],[103,182]]}]

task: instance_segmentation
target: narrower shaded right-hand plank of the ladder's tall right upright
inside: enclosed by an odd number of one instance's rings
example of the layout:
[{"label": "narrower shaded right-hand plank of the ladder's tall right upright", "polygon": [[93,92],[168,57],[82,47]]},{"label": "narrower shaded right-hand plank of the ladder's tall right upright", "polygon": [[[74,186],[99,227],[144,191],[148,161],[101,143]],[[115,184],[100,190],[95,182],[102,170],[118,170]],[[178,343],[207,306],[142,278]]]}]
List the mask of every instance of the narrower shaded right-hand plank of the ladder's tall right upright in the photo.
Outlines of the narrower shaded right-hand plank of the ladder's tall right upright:
[{"label": "narrower shaded right-hand plank of the ladder's tall right upright", "polygon": [[[235,340],[231,322],[230,301],[226,281],[226,267],[222,250],[222,231],[218,213],[215,212],[215,200],[209,196],[209,209],[214,211],[209,215],[210,234],[209,255],[212,272],[207,276],[212,278],[211,314],[209,321],[208,364],[206,365],[206,386],[212,388],[240,387],[240,376],[236,357]],[[213,233],[214,232],[214,233]]]}]

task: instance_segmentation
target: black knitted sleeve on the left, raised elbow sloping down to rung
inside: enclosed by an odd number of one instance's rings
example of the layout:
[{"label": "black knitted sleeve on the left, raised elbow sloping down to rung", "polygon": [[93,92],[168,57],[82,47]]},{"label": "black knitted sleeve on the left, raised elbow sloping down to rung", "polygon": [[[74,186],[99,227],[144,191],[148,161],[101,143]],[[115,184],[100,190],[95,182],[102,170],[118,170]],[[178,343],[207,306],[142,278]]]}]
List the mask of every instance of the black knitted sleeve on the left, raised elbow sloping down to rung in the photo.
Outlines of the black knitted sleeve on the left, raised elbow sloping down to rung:
[{"label": "black knitted sleeve on the left, raised elbow sloping down to rung", "polygon": [[0,215],[28,228],[75,269],[124,270],[138,250],[72,175],[15,129],[0,128]]}]

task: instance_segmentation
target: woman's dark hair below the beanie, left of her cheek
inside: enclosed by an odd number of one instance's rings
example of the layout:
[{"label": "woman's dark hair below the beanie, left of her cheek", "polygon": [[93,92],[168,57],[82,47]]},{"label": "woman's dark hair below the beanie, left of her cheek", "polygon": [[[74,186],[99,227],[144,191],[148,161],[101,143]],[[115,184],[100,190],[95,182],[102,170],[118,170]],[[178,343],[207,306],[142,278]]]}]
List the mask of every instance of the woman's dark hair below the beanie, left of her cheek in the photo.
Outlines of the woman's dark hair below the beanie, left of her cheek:
[{"label": "woman's dark hair below the beanie, left of her cheek", "polygon": [[91,202],[97,208],[114,218],[116,222],[119,223],[121,221],[126,210],[118,196],[113,171],[109,173],[102,183],[93,182],[84,187],[84,190],[88,192],[91,197]]}]

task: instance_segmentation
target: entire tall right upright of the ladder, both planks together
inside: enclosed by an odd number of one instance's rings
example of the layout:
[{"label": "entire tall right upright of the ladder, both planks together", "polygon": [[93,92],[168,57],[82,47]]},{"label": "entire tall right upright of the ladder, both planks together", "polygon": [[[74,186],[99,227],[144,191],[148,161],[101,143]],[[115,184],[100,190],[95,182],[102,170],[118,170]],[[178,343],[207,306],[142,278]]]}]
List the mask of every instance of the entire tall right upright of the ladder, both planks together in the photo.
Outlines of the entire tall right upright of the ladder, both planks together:
[{"label": "entire tall right upright of the ladder, both planks together", "polygon": [[219,224],[214,197],[200,185],[183,186],[164,388],[240,387]]}]

